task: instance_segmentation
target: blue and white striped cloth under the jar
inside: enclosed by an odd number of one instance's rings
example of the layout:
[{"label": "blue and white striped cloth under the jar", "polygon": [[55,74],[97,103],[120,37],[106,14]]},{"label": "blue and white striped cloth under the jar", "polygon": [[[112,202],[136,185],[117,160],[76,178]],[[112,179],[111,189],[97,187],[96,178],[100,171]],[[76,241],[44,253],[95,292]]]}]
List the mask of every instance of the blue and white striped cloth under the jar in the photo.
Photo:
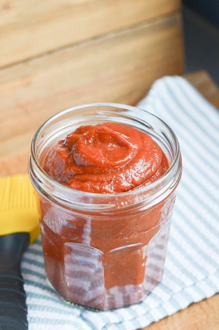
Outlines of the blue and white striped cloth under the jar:
[{"label": "blue and white striped cloth under the jar", "polygon": [[75,307],[47,283],[38,238],[22,260],[29,330],[135,330],[219,292],[219,111],[178,76],[154,82],[138,107],[174,130],[182,152],[163,279],[128,308]]}]

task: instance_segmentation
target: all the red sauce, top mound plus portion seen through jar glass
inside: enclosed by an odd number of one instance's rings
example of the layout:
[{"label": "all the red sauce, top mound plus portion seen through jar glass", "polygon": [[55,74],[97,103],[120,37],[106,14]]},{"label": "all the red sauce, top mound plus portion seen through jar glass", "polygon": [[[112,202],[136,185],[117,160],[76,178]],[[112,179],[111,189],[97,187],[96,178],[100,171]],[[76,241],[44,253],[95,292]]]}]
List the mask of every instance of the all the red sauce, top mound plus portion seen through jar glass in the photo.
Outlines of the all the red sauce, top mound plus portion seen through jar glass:
[{"label": "all the red sauce, top mound plus portion seen through jar glass", "polygon": [[[68,134],[42,167],[70,188],[115,194],[156,181],[169,163],[148,134],[106,122]],[[174,199],[169,195],[150,208],[82,212],[41,197],[48,279],[67,300],[95,309],[140,301],[161,280]]]}]

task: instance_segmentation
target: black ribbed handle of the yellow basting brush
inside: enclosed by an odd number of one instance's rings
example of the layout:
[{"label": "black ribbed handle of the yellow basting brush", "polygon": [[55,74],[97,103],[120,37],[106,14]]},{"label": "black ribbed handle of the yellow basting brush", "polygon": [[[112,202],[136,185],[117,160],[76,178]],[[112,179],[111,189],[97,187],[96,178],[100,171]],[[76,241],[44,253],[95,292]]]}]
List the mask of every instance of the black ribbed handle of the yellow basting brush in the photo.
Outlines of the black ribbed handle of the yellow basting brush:
[{"label": "black ribbed handle of the yellow basting brush", "polygon": [[29,233],[0,236],[0,330],[28,329],[21,275],[21,258],[28,245]]}]

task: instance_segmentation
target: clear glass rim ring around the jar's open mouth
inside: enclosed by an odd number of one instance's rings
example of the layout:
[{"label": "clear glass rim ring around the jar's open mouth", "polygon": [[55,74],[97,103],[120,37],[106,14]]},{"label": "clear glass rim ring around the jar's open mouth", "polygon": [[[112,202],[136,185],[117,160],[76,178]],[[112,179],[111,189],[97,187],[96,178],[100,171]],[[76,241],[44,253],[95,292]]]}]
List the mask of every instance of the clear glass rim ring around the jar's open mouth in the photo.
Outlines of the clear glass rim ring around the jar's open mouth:
[{"label": "clear glass rim ring around the jar's open mouth", "polygon": [[[43,130],[43,128],[52,123],[54,120],[58,119],[59,117],[66,115],[68,113],[70,113],[71,111],[74,110],[78,110],[78,109],[82,109],[82,108],[89,108],[89,107],[113,107],[113,108],[121,108],[121,109],[125,109],[125,110],[131,110],[131,111],[135,111],[138,113],[144,113],[147,114],[148,116],[151,116],[153,118],[156,118],[156,120],[158,120],[160,123],[162,123],[162,125],[169,131],[169,133],[172,136],[174,145],[175,145],[175,156],[174,159],[172,161],[172,163],[170,164],[170,167],[167,169],[167,171],[160,177],[158,178],[156,181],[150,183],[149,185],[143,186],[143,187],[139,187],[137,189],[132,189],[129,191],[124,191],[124,192],[119,192],[119,193],[93,193],[93,192],[86,192],[86,191],[82,191],[82,190],[77,190],[68,186],[65,186],[63,184],[61,184],[60,182],[57,182],[56,180],[54,180],[52,177],[50,177],[41,167],[37,156],[36,156],[36,140],[38,138],[38,136],[40,135],[41,131]],[[60,121],[61,122],[61,121]],[[66,194],[77,194],[79,197],[87,197],[87,198],[101,198],[102,200],[105,199],[110,199],[111,197],[114,199],[115,197],[123,197],[123,196],[132,196],[133,194],[136,193],[147,193],[150,190],[154,189],[156,186],[160,186],[162,185],[162,183],[164,181],[166,181],[166,178],[171,176],[171,174],[173,174],[174,176],[174,180],[171,182],[170,187],[169,188],[174,188],[174,185],[177,184],[177,182],[179,181],[180,177],[181,177],[181,168],[180,171],[177,171],[178,168],[178,164],[179,162],[181,162],[181,154],[180,154],[180,148],[179,148],[179,143],[178,143],[178,139],[175,135],[175,133],[173,132],[173,130],[159,117],[151,114],[150,112],[143,110],[141,108],[135,107],[135,106],[130,106],[130,105],[125,105],[125,104],[121,104],[121,103],[112,103],[112,102],[98,102],[98,103],[86,103],[86,104],[82,104],[82,105],[78,105],[75,107],[71,107],[71,108],[67,108],[57,114],[55,114],[54,116],[51,116],[50,118],[48,118],[35,132],[33,139],[32,139],[32,143],[31,143],[31,150],[30,150],[30,155],[29,155],[29,175],[30,178],[33,176],[32,172],[33,172],[33,168],[32,165],[34,163],[34,171],[37,171],[37,174],[39,175],[40,179],[46,179],[46,182],[48,183],[49,186],[53,186],[56,189],[62,189],[62,191],[65,191]],[[174,173],[176,173],[174,175]],[[35,181],[35,180],[34,180]]]}]

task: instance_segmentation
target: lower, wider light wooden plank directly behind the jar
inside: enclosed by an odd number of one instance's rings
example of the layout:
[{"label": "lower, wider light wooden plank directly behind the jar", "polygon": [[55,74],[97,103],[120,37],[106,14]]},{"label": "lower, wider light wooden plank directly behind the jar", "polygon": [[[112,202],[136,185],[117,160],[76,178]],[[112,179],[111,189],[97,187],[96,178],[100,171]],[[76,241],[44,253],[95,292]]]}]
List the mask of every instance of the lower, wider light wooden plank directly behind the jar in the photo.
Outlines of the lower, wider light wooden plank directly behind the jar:
[{"label": "lower, wider light wooden plank directly behind the jar", "polygon": [[135,104],[158,77],[181,74],[180,34],[173,14],[1,70],[1,159],[28,151],[35,130],[59,111],[89,102]]}]

